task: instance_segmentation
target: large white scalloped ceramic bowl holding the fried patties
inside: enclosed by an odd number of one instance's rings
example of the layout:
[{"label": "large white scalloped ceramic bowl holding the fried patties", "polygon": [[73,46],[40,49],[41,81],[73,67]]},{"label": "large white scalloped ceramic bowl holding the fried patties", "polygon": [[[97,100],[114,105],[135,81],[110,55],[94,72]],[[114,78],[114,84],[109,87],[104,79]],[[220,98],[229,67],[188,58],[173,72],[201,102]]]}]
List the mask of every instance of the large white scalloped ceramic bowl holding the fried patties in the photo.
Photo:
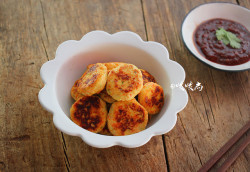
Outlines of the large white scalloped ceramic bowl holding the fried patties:
[{"label": "large white scalloped ceramic bowl holding the fried patties", "polygon": [[[73,99],[70,89],[86,70],[88,64],[97,62],[127,62],[149,71],[165,91],[165,104],[144,131],[128,136],[105,136],[89,132],[70,119]],[[108,34],[92,31],[80,41],[62,43],[54,60],[41,67],[45,86],[39,92],[39,101],[53,113],[53,122],[62,132],[79,136],[87,144],[106,148],[114,145],[138,147],[152,136],[170,131],[177,113],[187,104],[188,96],[183,87],[172,89],[171,84],[181,84],[185,79],[184,69],[169,59],[167,49],[156,42],[144,42],[137,34],[123,31]]]}]

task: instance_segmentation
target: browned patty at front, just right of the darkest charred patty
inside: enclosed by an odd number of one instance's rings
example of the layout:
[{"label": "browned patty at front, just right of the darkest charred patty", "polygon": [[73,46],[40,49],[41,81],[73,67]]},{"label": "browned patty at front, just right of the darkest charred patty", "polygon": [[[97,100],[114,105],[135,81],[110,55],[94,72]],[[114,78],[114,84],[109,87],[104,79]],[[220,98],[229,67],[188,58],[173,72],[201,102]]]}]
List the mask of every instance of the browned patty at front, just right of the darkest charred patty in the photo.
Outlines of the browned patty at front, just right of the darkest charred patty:
[{"label": "browned patty at front, just right of the darkest charred patty", "polygon": [[109,110],[107,123],[115,136],[138,133],[147,126],[148,112],[135,99],[115,102]]}]

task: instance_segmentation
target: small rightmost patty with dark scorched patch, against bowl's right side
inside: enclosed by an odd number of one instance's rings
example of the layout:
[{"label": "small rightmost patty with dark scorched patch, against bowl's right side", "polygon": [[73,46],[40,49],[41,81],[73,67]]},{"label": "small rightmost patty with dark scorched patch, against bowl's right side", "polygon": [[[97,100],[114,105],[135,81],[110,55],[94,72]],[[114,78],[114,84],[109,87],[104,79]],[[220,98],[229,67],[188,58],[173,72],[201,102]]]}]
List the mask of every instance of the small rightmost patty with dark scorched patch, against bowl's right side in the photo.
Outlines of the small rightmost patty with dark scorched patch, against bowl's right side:
[{"label": "small rightmost patty with dark scorched patch, against bowl's right side", "polygon": [[159,113],[164,104],[162,87],[154,82],[146,83],[138,95],[138,101],[150,115]]}]

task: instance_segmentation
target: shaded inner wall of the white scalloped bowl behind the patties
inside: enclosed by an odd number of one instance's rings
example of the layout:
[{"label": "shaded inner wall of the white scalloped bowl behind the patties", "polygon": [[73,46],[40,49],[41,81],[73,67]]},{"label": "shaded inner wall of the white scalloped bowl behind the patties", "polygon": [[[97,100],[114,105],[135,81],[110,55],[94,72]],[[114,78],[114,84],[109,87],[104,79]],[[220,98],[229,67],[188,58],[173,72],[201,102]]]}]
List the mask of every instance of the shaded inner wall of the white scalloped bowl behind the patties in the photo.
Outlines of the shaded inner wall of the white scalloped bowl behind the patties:
[{"label": "shaded inner wall of the white scalloped bowl behind the patties", "polygon": [[[167,57],[166,57],[167,58]],[[165,93],[165,104],[161,112],[150,120],[147,128],[160,120],[171,101],[172,90],[169,77],[162,64],[145,51],[126,44],[100,44],[84,49],[82,53],[69,58],[61,66],[56,77],[57,101],[64,114],[70,116],[70,107],[74,103],[70,90],[74,82],[80,78],[87,65],[97,62],[127,62],[145,69],[151,73],[156,81],[163,87]]]}]

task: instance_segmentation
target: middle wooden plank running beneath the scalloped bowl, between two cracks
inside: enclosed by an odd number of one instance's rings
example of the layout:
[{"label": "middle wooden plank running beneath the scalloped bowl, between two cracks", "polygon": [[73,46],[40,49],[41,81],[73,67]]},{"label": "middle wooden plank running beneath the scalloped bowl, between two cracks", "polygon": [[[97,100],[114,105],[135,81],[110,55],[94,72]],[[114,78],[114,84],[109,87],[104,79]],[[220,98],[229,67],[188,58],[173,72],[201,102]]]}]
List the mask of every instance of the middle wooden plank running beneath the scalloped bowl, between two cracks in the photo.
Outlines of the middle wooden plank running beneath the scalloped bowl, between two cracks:
[{"label": "middle wooden plank running beneath the scalloped bowl, between two cracks", "polygon": [[[48,2],[48,1],[46,1]],[[92,30],[115,33],[131,30],[146,38],[140,1],[41,2],[44,14],[45,49],[54,57],[59,43],[79,40]],[[66,15],[62,15],[64,13]],[[66,165],[71,171],[166,171],[161,137],[139,149],[121,147],[96,149],[80,138],[63,135]],[[133,157],[133,158],[131,158]]]}]

